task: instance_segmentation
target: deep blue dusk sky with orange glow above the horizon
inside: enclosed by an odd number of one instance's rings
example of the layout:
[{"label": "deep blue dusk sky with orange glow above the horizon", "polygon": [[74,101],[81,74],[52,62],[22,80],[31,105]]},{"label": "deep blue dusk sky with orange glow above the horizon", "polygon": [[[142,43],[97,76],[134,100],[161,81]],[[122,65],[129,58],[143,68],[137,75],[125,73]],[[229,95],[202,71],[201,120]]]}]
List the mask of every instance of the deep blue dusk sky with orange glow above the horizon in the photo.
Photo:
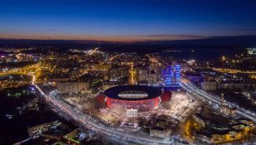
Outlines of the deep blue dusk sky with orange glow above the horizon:
[{"label": "deep blue dusk sky with orange glow above the horizon", "polygon": [[249,0],[0,0],[0,38],[187,40],[256,35]]}]

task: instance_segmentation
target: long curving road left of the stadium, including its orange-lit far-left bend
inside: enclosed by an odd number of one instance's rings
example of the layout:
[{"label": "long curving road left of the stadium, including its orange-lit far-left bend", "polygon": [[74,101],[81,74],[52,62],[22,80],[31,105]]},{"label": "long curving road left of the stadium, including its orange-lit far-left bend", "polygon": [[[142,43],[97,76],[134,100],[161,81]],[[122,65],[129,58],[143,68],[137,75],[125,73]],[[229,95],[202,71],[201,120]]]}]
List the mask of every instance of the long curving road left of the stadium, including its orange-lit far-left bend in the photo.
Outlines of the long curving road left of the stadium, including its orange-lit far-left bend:
[{"label": "long curving road left of the stadium, including its orange-lit far-left bend", "polygon": [[[36,67],[35,71],[29,72],[31,68]],[[106,123],[100,122],[97,118],[94,118],[90,114],[83,114],[81,110],[74,109],[72,106],[66,104],[58,97],[54,97],[51,93],[43,92],[43,90],[35,83],[37,80],[36,72],[38,72],[38,65],[33,65],[32,67],[23,68],[20,70],[12,70],[5,72],[0,75],[7,75],[13,73],[19,73],[23,75],[32,76],[32,85],[38,89],[38,92],[42,94],[42,96],[47,100],[48,104],[52,104],[55,108],[61,110],[64,114],[68,115],[68,117],[73,118],[75,121],[80,123],[86,128],[92,129],[94,132],[107,136],[110,138],[116,138],[118,143],[141,143],[141,144],[174,144],[173,142],[183,141],[178,140],[177,138],[151,138],[148,135],[138,135],[138,133],[129,133],[127,131],[118,130],[118,128],[110,127]]]}]

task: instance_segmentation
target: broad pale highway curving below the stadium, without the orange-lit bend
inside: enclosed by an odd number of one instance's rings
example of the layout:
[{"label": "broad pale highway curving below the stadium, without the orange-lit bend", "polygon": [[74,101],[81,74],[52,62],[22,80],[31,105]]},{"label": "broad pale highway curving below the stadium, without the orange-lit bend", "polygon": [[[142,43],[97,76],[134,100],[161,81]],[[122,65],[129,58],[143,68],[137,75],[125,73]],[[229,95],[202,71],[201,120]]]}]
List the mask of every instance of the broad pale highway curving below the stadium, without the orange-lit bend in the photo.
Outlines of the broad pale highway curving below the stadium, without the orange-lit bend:
[{"label": "broad pale highway curving below the stadium, without the orange-lit bend", "polygon": [[[109,136],[117,138],[118,141],[123,140],[123,142],[132,143],[142,143],[142,144],[170,144],[169,140],[163,140],[158,138],[150,138],[149,136],[138,136],[135,133],[128,133],[125,131],[118,130],[118,128],[109,127],[101,123],[97,118],[93,118],[88,114],[81,113],[78,109],[73,109],[72,107],[65,104],[62,100],[57,99],[51,95],[45,94],[38,85],[33,85],[38,89],[40,94],[48,101],[48,103],[53,104],[56,108],[68,114],[69,117],[73,118],[78,123],[82,124],[86,128],[91,128],[94,132],[99,133],[103,136]],[[51,94],[51,93],[50,93]]]}]

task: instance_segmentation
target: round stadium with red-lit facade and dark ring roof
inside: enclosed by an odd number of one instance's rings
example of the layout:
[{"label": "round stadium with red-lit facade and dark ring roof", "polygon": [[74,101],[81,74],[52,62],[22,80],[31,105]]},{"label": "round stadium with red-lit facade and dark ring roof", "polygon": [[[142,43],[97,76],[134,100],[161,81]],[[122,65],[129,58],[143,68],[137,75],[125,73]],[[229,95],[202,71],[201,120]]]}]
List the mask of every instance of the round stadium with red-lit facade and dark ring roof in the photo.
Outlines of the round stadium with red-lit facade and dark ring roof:
[{"label": "round stadium with red-lit facade and dark ring roof", "polygon": [[148,85],[120,85],[105,90],[98,99],[110,109],[149,110],[158,107],[161,95],[161,89]]}]

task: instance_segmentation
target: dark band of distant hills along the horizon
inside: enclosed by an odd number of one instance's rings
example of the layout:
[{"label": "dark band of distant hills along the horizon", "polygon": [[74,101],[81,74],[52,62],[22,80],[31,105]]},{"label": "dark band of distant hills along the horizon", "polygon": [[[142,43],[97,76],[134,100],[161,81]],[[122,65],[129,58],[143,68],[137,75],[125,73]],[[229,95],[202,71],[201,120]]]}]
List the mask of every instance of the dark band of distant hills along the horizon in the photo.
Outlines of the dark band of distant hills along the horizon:
[{"label": "dark band of distant hills along the horizon", "polygon": [[101,46],[104,48],[128,49],[134,47],[177,47],[177,48],[241,48],[256,47],[256,36],[211,36],[204,39],[176,40],[176,41],[136,41],[136,42],[113,42],[113,41],[75,41],[75,40],[21,40],[21,39],[0,39],[0,46],[21,47],[21,46],[58,46],[89,47]]}]

